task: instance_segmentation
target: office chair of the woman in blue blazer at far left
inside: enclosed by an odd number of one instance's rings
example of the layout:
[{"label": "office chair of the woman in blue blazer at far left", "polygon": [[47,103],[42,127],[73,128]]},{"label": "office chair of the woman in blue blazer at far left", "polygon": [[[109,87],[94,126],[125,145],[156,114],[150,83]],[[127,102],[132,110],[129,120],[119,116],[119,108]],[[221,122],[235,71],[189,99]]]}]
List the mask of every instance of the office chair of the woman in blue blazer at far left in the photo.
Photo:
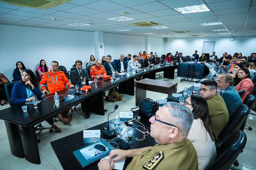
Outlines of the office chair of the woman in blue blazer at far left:
[{"label": "office chair of the woman in blue blazer at far left", "polygon": [[[11,103],[11,90],[13,89],[14,83],[17,83],[17,82],[11,82],[11,83],[6,83],[5,84],[6,97],[7,97],[7,100],[8,100],[11,107],[13,106],[13,104]],[[34,129],[35,129],[35,132],[38,131],[38,130],[45,130],[45,129],[50,129],[49,130],[50,132],[53,131],[53,128],[42,128],[42,123],[39,123],[38,125],[36,125],[34,127]],[[37,142],[40,142],[40,139],[39,139],[37,133],[35,133],[35,135],[37,137]]]}]

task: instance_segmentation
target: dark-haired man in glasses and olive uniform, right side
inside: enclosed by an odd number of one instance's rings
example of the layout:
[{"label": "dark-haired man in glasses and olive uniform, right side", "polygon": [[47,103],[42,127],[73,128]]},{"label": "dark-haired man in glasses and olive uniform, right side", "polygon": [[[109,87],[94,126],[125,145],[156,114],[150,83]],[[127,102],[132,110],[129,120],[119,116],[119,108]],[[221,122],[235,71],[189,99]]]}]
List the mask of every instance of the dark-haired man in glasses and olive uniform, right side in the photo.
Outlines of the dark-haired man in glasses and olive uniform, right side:
[{"label": "dark-haired man in glasses and olive uniform, right side", "polygon": [[200,95],[207,101],[213,133],[216,139],[218,139],[221,131],[229,124],[229,111],[223,98],[218,95],[217,88],[218,85],[215,80],[201,82]]}]

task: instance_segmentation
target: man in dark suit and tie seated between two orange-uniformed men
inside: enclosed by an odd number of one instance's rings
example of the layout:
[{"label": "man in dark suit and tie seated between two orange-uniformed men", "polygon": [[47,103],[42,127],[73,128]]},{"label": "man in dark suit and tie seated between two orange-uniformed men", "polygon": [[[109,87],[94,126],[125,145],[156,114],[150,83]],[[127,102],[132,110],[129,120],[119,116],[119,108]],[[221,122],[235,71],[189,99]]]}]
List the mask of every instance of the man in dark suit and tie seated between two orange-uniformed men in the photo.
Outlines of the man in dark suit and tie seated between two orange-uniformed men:
[{"label": "man in dark suit and tie seated between two orange-uniformed men", "polygon": [[[76,69],[70,72],[70,81],[72,84],[79,84],[81,87],[82,82],[85,82],[86,78],[90,78],[90,76],[87,73],[87,70],[81,69],[82,68],[82,61],[77,60],[75,61],[75,67]],[[87,105],[87,101],[91,100],[90,97],[88,97],[85,101],[81,102],[81,107],[83,113],[85,113],[85,117],[89,118],[90,117],[90,112],[88,111],[89,105]]]}]

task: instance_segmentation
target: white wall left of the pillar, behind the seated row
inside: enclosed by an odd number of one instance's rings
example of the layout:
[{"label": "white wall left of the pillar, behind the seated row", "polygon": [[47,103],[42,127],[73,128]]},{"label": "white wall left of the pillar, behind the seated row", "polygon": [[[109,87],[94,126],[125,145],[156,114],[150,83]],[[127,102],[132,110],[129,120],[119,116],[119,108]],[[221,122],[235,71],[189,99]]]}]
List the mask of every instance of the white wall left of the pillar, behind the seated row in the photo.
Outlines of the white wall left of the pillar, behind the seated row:
[{"label": "white wall left of the pillar, behind the seated row", "polygon": [[[12,80],[17,61],[35,71],[41,59],[69,70],[75,60],[84,65],[95,55],[95,33],[0,24],[0,73]],[[96,56],[95,56],[96,57]],[[35,73],[35,72],[34,72]]]}]

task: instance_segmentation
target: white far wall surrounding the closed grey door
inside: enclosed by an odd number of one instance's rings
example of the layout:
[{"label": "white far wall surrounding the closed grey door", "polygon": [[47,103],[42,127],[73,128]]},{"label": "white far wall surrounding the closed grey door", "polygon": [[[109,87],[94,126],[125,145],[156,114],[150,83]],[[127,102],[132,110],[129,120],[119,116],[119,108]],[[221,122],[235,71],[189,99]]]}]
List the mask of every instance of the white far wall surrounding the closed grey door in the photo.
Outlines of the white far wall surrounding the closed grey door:
[{"label": "white far wall surrounding the closed grey door", "polygon": [[[205,38],[169,38],[164,43],[164,49],[169,49],[174,55],[176,51],[182,52],[183,56],[192,56],[195,50],[201,56],[203,50],[203,41],[215,41],[216,55],[222,57],[223,52],[234,55],[235,52],[242,53],[243,56],[250,56],[256,52],[256,37],[235,37],[235,41],[230,41],[231,37],[205,37]],[[212,55],[212,52],[209,52]]]}]

